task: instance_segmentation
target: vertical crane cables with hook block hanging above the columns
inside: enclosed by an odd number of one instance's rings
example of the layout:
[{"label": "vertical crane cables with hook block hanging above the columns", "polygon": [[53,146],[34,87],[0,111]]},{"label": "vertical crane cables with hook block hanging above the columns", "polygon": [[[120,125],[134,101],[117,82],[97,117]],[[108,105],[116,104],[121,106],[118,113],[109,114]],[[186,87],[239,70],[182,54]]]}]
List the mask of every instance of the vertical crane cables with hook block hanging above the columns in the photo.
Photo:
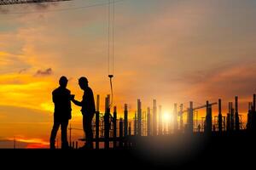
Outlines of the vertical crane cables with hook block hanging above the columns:
[{"label": "vertical crane cables with hook block hanging above the columns", "polygon": [[[108,77],[110,82],[110,90],[111,90],[111,99],[109,102],[109,108],[113,105],[113,56],[114,56],[114,14],[115,14],[115,0],[108,0]],[[111,11],[111,4],[113,5],[113,9]],[[112,17],[111,17],[111,12]],[[111,28],[112,28],[112,42],[111,42]],[[110,53],[111,48],[110,44],[112,43],[112,54]],[[112,72],[110,73],[110,57],[112,59]]]}]

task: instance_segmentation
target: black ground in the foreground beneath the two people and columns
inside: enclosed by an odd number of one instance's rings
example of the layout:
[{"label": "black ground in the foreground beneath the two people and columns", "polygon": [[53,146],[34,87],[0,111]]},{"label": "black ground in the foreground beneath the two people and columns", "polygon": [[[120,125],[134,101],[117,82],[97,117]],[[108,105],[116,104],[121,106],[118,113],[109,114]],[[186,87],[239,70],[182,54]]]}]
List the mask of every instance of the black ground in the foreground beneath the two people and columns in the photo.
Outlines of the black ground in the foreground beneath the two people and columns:
[{"label": "black ground in the foreground beneath the two people and columns", "polygon": [[255,169],[256,140],[250,133],[194,134],[145,137],[131,149],[0,150],[0,155],[2,165],[21,169]]}]

